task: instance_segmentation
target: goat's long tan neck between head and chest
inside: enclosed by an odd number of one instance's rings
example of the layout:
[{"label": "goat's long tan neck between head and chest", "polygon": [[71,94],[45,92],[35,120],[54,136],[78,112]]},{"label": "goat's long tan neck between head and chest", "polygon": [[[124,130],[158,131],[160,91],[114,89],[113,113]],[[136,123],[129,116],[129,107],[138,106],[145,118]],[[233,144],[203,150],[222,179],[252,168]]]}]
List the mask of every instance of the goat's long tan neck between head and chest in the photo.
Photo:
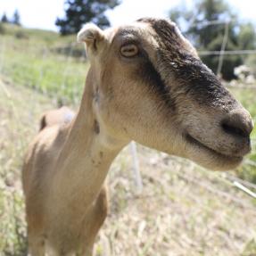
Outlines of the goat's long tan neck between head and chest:
[{"label": "goat's long tan neck between head and chest", "polygon": [[90,70],[78,115],[70,124],[54,176],[54,200],[64,199],[65,204],[68,201],[66,206],[77,215],[95,200],[111,162],[125,145],[120,141],[115,146],[106,144],[106,133],[98,127],[93,107],[93,75]]}]

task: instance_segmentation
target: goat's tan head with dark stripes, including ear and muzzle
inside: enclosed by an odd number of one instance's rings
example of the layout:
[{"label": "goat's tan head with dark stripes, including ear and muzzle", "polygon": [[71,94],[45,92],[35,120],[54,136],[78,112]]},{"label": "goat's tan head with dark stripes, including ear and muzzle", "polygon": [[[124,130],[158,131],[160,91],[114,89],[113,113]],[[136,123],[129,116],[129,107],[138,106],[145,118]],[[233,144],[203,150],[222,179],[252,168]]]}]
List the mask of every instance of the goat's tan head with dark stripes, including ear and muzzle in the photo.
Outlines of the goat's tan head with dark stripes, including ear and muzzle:
[{"label": "goat's tan head with dark stripes, including ear and muzzle", "polygon": [[87,25],[78,40],[87,45],[100,125],[113,136],[211,169],[232,169],[250,152],[250,114],[175,23]]}]

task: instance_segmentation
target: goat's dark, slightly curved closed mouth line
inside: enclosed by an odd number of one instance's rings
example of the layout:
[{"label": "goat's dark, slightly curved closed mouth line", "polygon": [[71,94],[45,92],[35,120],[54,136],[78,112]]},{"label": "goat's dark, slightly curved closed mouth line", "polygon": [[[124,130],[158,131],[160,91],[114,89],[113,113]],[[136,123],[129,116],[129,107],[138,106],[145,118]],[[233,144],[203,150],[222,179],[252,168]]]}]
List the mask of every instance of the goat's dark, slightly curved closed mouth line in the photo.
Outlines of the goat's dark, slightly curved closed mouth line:
[{"label": "goat's dark, slightly curved closed mouth line", "polygon": [[237,155],[230,155],[227,153],[220,153],[216,151],[215,149],[209,147],[208,145],[204,145],[201,141],[194,138],[194,136],[191,136],[190,134],[186,134],[186,141],[193,146],[196,146],[199,150],[203,150],[206,153],[210,153],[214,158],[217,158],[221,161],[227,161],[227,162],[237,162],[239,164],[241,161],[243,161],[243,156],[237,156]]}]

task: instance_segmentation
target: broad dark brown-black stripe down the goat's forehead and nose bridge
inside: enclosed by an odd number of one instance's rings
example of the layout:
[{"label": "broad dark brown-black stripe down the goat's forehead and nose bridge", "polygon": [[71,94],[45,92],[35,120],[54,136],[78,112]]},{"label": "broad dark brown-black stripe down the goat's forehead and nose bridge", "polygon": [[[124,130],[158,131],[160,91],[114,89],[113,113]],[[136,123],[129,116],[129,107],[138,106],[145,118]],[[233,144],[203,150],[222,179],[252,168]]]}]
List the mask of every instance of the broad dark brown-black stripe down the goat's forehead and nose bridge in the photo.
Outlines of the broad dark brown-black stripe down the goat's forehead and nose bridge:
[{"label": "broad dark brown-black stripe down the goat's forehead and nose bridge", "polygon": [[165,82],[175,78],[179,87],[172,93],[193,96],[197,103],[208,105],[234,104],[234,98],[223,87],[213,72],[201,60],[191,54],[176,26],[166,20],[141,19],[148,22],[155,30],[160,47],[158,50],[158,66]]}]

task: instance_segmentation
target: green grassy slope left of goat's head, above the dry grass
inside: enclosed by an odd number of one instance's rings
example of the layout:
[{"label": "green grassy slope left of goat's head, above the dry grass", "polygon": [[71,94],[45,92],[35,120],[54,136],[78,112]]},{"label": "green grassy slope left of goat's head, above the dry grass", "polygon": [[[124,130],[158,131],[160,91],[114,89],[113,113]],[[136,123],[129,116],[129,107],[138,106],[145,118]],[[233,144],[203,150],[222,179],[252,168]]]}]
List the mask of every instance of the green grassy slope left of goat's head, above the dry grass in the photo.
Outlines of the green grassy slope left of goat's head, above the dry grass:
[{"label": "green grassy slope left of goat's head, above the dry grass", "polygon": [[12,25],[5,25],[4,31],[0,37],[0,69],[4,76],[58,101],[78,102],[88,64],[82,58],[83,45],[75,43],[75,36],[60,37],[51,31]]}]

